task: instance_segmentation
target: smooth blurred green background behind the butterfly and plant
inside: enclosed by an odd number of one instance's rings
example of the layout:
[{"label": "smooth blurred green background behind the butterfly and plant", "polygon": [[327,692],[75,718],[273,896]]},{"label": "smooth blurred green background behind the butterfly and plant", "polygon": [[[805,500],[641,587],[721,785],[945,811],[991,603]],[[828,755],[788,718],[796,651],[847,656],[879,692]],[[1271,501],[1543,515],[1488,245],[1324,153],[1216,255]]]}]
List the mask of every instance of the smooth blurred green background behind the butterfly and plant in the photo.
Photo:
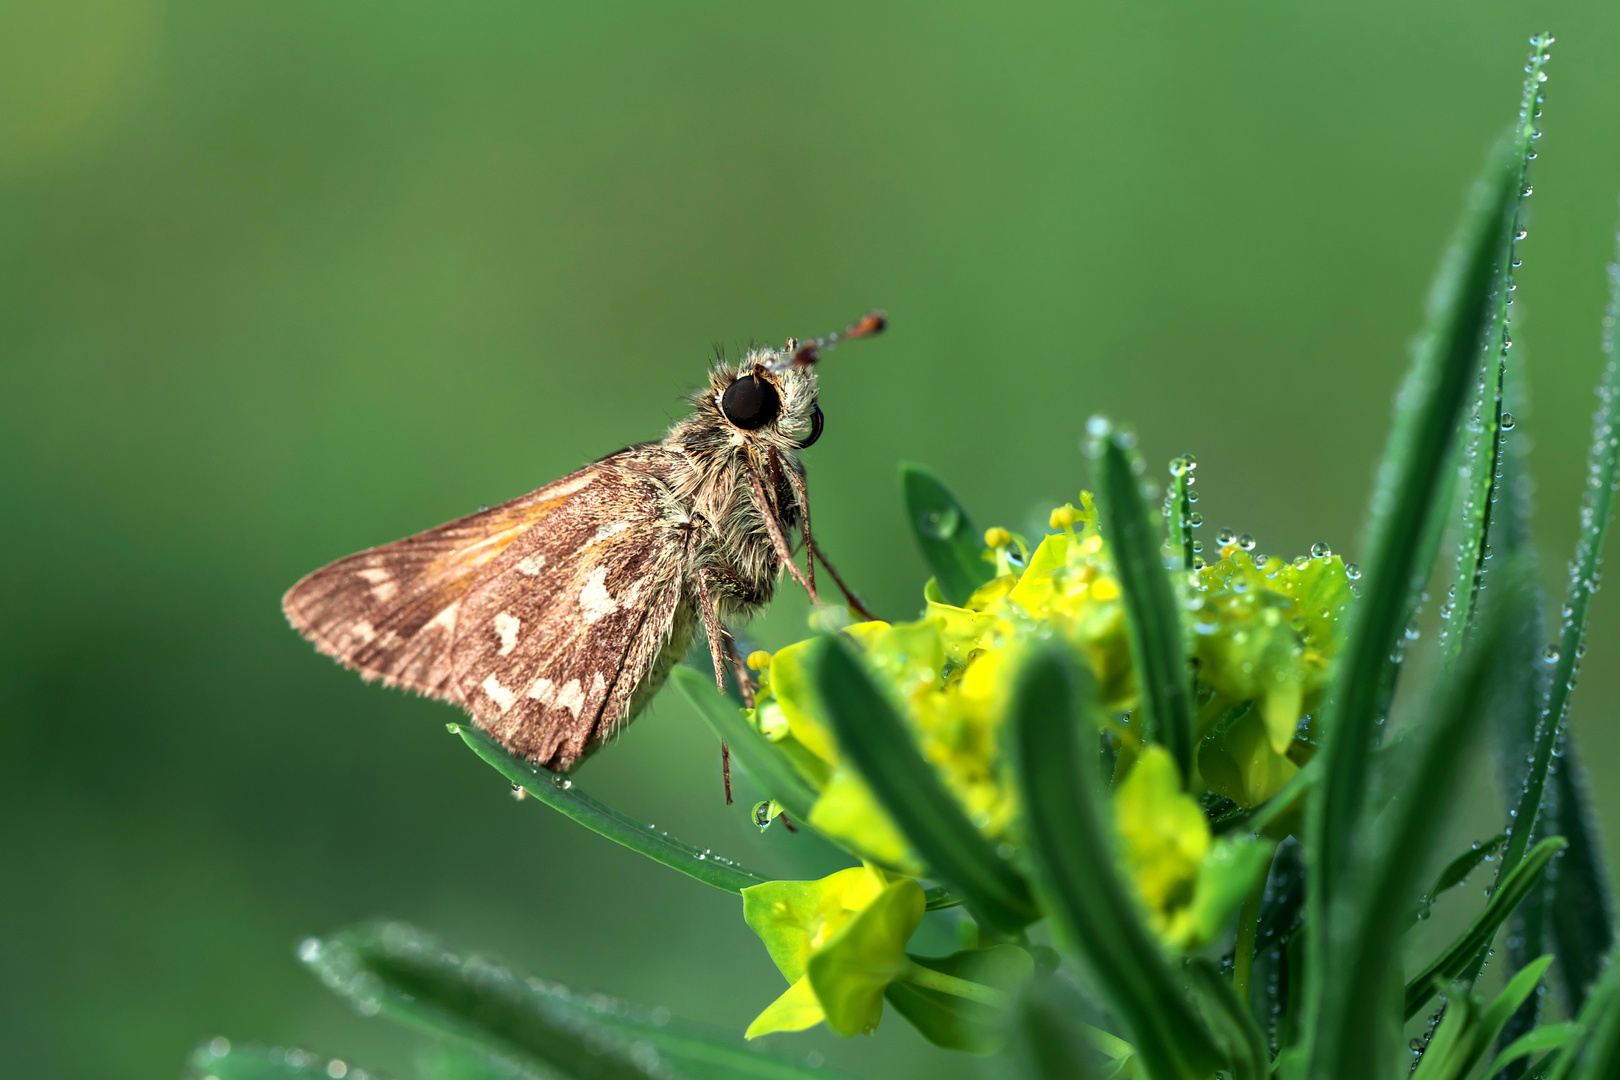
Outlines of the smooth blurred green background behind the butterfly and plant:
[{"label": "smooth blurred green background behind the butterfly and plant", "polygon": [[[1354,557],[1544,26],[1513,437],[1558,585],[1620,194],[1612,2],[0,6],[0,1069],[156,1080],[225,1033],[408,1075],[293,955],[373,913],[740,1030],[781,978],[735,900],[515,803],[449,708],[300,641],[282,589],[656,437],[714,343],[873,306],[891,332],[828,358],[808,461],[880,610],[923,580],[897,460],[1019,526],[1084,483],[1098,410],[1155,463],[1199,455],[1210,533]],[[753,633],[804,614],[784,591]],[[1576,725],[1614,823],[1620,601],[1594,617]],[[671,698],[582,784],[795,866]],[[894,1017],[786,1041],[972,1072]]]}]

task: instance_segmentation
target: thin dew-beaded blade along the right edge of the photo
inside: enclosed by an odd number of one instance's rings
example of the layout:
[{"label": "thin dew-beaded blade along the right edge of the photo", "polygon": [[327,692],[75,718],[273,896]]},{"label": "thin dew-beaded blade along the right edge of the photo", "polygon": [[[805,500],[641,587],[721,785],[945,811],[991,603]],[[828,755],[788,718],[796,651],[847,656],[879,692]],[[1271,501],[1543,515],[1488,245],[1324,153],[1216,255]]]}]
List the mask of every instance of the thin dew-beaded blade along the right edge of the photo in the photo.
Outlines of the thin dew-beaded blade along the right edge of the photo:
[{"label": "thin dew-beaded blade along the right edge of the photo", "polygon": [[[1620,249],[1620,236],[1617,236]],[[1599,565],[1602,563],[1604,538],[1614,510],[1614,489],[1620,479],[1620,356],[1615,356],[1615,322],[1620,321],[1620,256],[1609,266],[1609,309],[1604,316],[1604,371],[1597,381],[1597,411],[1592,415],[1592,444],[1586,457],[1586,492],[1581,497],[1581,533],[1570,562],[1570,585],[1563,601],[1563,623],[1557,646],[1549,653],[1554,661],[1547,699],[1536,732],[1536,753],[1513,811],[1511,836],[1497,878],[1513,873],[1541,813],[1542,795],[1554,750],[1563,733],[1570,711],[1570,695],[1575,690],[1576,661],[1584,649],[1586,615],[1597,591]]]}]

